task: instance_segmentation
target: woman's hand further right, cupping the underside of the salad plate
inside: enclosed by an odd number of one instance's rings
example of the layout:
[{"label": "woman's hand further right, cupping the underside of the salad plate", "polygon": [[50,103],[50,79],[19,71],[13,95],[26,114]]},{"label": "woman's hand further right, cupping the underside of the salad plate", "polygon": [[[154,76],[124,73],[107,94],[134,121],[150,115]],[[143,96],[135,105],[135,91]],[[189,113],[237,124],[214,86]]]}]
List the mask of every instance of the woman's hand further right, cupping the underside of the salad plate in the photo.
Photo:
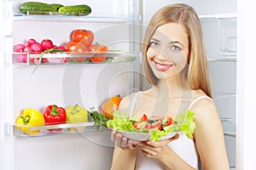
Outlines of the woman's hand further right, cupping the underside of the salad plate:
[{"label": "woman's hand further right, cupping the underside of the salad plate", "polygon": [[137,148],[142,150],[143,154],[147,157],[160,158],[164,155],[164,152],[169,148],[168,144],[172,142],[172,140],[178,139],[179,134],[177,133],[171,139],[160,140],[154,142],[152,140],[148,140],[145,142],[140,142],[136,144]]}]

